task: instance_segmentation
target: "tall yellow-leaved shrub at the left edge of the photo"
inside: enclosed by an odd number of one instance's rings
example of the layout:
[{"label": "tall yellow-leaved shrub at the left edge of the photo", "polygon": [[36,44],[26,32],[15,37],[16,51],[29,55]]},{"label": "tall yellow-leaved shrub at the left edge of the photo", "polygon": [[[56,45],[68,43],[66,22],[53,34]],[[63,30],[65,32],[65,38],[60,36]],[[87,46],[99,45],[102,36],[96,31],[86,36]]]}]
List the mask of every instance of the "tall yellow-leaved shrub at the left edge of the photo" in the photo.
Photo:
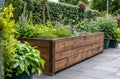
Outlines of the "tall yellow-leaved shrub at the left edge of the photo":
[{"label": "tall yellow-leaved shrub at the left edge of the photo", "polygon": [[12,5],[10,5],[9,7],[4,7],[3,12],[0,13],[0,36],[2,40],[2,54],[5,62],[5,76],[11,76],[10,74],[7,74],[7,72],[12,72],[10,68],[11,63],[9,62],[9,60],[15,58],[15,55],[13,54],[13,41],[15,41],[13,33],[15,32],[15,30],[12,28],[12,25],[14,25],[14,20],[11,20],[11,18],[13,17],[13,10],[14,9]]}]

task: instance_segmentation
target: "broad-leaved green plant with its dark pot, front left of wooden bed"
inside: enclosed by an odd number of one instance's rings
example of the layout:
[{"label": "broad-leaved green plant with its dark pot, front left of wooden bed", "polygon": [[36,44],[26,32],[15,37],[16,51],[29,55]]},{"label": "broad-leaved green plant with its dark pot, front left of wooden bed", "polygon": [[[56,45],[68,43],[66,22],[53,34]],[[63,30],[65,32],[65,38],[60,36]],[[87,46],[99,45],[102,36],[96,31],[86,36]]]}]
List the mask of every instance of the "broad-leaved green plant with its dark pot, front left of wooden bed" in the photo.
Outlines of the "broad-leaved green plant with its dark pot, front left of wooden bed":
[{"label": "broad-leaved green plant with its dark pot, front left of wooden bed", "polygon": [[[29,43],[13,41],[14,51],[9,60],[5,58],[5,79],[32,79],[37,71],[42,74],[41,68],[44,68],[44,60],[40,58],[40,52],[30,46]],[[7,46],[4,46],[7,47]]]}]

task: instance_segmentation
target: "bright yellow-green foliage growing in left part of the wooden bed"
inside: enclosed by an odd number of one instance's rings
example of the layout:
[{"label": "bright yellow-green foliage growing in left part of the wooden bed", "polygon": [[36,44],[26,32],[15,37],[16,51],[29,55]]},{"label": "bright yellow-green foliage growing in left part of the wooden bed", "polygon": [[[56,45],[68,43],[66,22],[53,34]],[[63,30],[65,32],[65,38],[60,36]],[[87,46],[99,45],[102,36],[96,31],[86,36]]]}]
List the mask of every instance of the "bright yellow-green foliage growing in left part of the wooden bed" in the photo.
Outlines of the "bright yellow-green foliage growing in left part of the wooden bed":
[{"label": "bright yellow-green foliage growing in left part of the wooden bed", "polygon": [[14,28],[18,31],[16,34],[17,37],[24,38],[45,38],[45,39],[53,39],[60,37],[68,37],[75,35],[72,30],[68,26],[62,26],[59,24],[54,25],[51,24],[41,25],[41,24],[27,24],[24,26],[24,33],[21,33],[20,25],[15,25]]}]

